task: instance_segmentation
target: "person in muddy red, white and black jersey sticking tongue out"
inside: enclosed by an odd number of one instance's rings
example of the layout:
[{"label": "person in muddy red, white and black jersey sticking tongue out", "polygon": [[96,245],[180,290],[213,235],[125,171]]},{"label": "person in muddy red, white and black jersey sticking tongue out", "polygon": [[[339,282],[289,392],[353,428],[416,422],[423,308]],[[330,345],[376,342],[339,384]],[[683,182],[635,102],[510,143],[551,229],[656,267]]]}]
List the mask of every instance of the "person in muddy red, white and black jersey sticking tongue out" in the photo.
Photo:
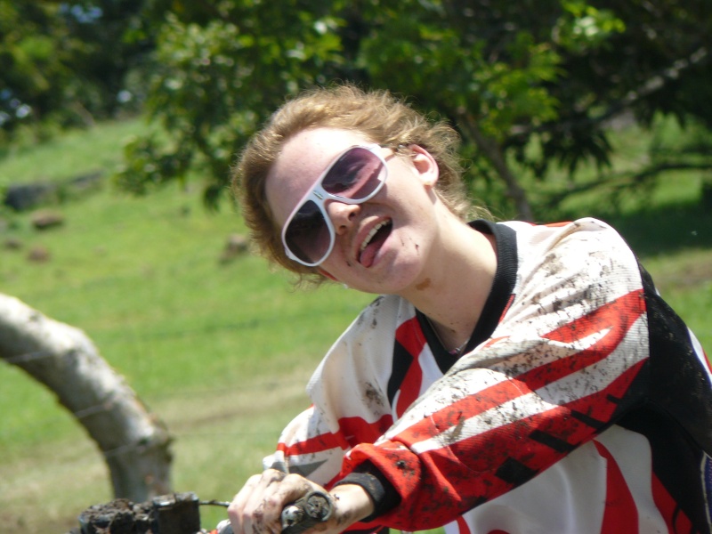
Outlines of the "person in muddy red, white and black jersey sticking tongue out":
[{"label": "person in muddy red, white and black jersey sticking tongue out", "polygon": [[242,154],[263,253],[381,296],[234,498],[233,530],[277,532],[328,490],[320,532],[710,532],[700,344],[605,223],[465,223],[456,142],[347,85],[287,102]]}]

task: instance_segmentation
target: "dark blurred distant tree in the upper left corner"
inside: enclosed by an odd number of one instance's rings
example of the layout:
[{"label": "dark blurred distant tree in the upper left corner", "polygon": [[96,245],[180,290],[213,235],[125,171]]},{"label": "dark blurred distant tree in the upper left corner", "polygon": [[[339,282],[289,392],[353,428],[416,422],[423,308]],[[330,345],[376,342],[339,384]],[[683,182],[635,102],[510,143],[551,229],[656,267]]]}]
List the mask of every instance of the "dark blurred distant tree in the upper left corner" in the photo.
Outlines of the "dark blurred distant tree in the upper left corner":
[{"label": "dark blurred distant tree in the upper left corner", "polygon": [[135,31],[142,4],[0,0],[0,141],[23,126],[91,125],[140,100],[127,77],[152,48]]}]

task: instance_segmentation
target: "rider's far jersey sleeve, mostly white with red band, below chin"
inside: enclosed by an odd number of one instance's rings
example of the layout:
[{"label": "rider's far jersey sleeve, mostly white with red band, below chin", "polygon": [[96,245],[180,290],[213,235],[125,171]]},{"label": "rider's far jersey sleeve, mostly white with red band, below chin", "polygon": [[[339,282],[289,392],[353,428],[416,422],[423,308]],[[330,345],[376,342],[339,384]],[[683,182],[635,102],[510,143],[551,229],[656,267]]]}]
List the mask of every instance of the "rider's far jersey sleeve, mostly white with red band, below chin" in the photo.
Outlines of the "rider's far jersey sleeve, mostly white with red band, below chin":
[{"label": "rider's far jersey sleeve, mostly white with red band, below chin", "polygon": [[[373,443],[392,425],[384,392],[399,300],[379,297],[331,346],[307,386],[312,406],[279,436],[263,466],[329,486],[346,451]],[[376,328],[376,325],[378,328]]]}]

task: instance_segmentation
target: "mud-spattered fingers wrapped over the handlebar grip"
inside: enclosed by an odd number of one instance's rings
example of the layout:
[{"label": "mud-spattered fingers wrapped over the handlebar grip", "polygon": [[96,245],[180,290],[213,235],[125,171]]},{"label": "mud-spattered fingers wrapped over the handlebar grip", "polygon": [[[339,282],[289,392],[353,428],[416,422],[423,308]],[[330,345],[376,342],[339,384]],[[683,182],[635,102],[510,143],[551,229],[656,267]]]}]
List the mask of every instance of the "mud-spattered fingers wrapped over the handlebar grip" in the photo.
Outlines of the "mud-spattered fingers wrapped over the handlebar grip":
[{"label": "mud-spattered fingers wrapped over the handlebar grip", "polygon": [[287,504],[319,486],[297,474],[268,469],[250,477],[228,506],[235,534],[279,534]]}]

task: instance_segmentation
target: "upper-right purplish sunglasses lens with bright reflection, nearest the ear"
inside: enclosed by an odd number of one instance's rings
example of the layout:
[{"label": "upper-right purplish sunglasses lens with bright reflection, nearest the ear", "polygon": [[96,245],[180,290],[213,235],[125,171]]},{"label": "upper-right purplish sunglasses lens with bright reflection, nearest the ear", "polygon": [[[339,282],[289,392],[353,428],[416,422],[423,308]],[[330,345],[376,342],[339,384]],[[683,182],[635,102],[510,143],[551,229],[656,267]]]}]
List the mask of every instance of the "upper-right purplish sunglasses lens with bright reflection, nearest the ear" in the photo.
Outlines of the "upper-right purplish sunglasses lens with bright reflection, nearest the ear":
[{"label": "upper-right purplish sunglasses lens with bright reflection, nearest the ear", "polygon": [[367,198],[385,180],[383,161],[368,149],[353,148],[331,166],[321,187],[338,197]]}]

